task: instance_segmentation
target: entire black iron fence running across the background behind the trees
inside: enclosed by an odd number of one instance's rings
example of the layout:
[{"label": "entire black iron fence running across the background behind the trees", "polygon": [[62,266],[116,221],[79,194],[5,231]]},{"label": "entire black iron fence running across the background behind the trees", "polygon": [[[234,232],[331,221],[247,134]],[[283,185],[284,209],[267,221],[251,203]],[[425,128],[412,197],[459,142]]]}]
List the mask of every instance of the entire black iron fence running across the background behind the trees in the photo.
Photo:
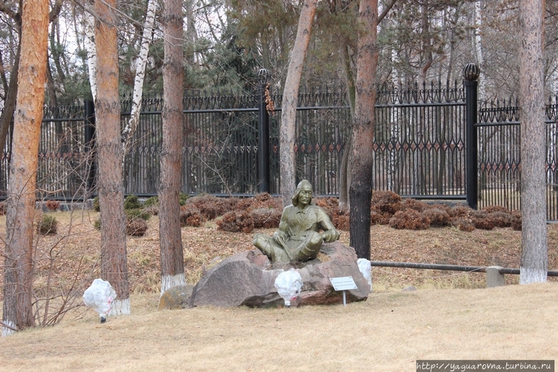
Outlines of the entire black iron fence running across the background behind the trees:
[{"label": "entire black iron fence running across the background behind the trees", "polygon": [[[465,77],[471,78],[469,75]],[[464,84],[378,89],[375,190],[421,199],[467,199],[478,207],[499,204],[511,210],[520,208],[518,105],[505,101],[478,107],[474,80],[476,75]],[[266,106],[270,111],[262,121],[263,94],[262,89],[252,94],[188,91],[183,98],[184,193],[253,195],[262,191],[263,184],[270,193],[280,193],[282,101],[280,95],[271,94],[274,107]],[[158,191],[162,109],[162,98],[142,100],[133,146],[124,161],[126,194],[147,196]],[[121,110],[124,127],[130,118],[131,101],[123,99]],[[339,193],[351,117],[345,91],[323,89],[299,94],[294,144],[297,178],[310,180],[316,194]],[[557,117],[558,103],[551,102],[547,105],[547,170],[548,218],[552,220],[558,219]],[[45,107],[38,198],[76,200],[95,193],[94,119],[91,102]],[[266,146],[259,138],[262,128],[269,133]],[[4,197],[11,137],[10,131],[0,159],[0,193]],[[467,146],[467,138],[471,146]]]}]

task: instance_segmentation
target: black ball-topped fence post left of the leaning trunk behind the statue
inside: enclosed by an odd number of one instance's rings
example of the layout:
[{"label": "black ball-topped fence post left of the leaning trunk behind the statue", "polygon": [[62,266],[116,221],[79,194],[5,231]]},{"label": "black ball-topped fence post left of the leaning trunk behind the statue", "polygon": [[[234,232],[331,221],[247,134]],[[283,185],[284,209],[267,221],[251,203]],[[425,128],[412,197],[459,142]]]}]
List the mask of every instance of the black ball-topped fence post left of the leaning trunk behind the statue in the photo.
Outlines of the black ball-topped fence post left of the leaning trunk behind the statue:
[{"label": "black ball-topped fence post left of the leaning trunk behind the statue", "polygon": [[259,193],[269,193],[271,184],[269,172],[269,113],[266,107],[266,84],[269,71],[261,68],[259,79],[259,107],[257,117],[257,183]]}]

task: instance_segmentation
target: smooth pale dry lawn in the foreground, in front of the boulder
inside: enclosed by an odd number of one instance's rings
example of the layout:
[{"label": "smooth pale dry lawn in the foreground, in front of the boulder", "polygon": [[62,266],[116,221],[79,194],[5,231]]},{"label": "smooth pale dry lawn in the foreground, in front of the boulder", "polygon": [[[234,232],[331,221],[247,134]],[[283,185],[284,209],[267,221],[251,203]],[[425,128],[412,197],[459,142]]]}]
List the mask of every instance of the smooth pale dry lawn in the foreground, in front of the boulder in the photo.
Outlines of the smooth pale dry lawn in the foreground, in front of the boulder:
[{"label": "smooth pale dry lawn in the foreground, in front of the boulder", "polygon": [[88,312],[0,339],[2,371],[415,371],[417,359],[554,359],[558,284],[373,294],[347,306]]}]

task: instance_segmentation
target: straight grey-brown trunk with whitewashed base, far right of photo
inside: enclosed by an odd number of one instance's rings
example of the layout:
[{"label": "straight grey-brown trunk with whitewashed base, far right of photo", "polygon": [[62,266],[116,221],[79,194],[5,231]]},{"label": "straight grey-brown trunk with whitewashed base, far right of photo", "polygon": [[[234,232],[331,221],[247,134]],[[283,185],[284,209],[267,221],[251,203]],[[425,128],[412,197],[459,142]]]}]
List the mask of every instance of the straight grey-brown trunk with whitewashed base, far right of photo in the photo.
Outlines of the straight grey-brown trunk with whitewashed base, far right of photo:
[{"label": "straight grey-brown trunk with whitewashed base, far right of photo", "polygon": [[520,1],[521,274],[545,282],[548,238],[545,202],[544,0]]}]

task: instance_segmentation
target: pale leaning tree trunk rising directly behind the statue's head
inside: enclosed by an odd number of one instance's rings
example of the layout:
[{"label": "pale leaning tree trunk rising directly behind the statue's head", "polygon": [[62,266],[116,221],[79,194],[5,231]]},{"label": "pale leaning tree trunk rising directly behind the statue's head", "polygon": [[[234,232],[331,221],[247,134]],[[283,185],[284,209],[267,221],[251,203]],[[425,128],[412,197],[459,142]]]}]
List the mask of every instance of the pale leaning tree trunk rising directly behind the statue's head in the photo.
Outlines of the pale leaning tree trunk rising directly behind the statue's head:
[{"label": "pale leaning tree trunk rising directly behind the statue's head", "polygon": [[281,127],[279,132],[279,158],[281,196],[284,206],[291,204],[291,198],[296,188],[296,154],[294,154],[296,105],[299,101],[302,67],[304,59],[306,59],[308,43],[310,43],[310,32],[312,31],[316,7],[317,0],[304,0],[287,70],[285,89],[283,89]]}]

